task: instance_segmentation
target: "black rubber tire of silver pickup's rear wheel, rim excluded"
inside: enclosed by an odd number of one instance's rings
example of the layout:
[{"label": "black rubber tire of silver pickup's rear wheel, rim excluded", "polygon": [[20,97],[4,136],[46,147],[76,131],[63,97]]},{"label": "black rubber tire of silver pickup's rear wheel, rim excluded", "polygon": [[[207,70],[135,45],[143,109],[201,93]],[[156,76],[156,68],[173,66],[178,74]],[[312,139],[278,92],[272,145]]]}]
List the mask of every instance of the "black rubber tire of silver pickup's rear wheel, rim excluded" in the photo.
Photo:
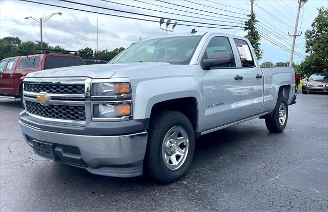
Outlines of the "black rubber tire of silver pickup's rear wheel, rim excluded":
[{"label": "black rubber tire of silver pickup's rear wheel, rim excluded", "polygon": [[[279,122],[279,108],[280,108],[281,104],[284,104],[285,114],[286,114],[285,115],[285,121],[282,125]],[[265,119],[265,125],[267,126],[267,128],[270,132],[276,132],[276,133],[277,132],[282,132],[284,130],[284,128],[286,127],[287,120],[288,120],[288,103],[287,103],[287,99],[284,98],[282,95],[279,95],[276,107],[272,112],[271,118],[270,119]]]}]

